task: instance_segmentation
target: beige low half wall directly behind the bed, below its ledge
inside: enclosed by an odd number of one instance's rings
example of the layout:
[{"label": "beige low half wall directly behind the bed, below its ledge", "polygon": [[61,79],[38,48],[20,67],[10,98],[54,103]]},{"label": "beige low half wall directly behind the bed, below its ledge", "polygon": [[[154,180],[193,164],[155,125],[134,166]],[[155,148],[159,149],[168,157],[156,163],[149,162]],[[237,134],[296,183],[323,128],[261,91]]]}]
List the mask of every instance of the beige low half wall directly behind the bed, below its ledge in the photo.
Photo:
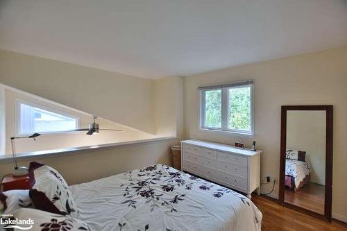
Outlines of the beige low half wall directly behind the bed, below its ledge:
[{"label": "beige low half wall directly behind the bed, below its ledge", "polygon": [[[57,169],[69,185],[88,182],[124,171],[162,163],[171,165],[170,145],[176,139],[119,146],[88,153],[70,154],[56,157],[32,158]],[[31,160],[19,161],[19,166],[28,166]],[[13,170],[11,162],[0,163],[0,178]]]}]

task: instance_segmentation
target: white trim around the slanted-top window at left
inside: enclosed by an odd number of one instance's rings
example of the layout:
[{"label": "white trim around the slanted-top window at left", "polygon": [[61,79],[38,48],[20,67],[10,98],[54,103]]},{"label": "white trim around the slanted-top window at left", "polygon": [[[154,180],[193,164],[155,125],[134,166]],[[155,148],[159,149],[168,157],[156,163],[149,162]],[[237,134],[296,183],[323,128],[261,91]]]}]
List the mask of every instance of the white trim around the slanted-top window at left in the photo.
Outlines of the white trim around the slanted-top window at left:
[{"label": "white trim around the slanted-top window at left", "polygon": [[[40,103],[34,103],[34,102],[31,102],[31,101],[26,101],[24,99],[15,99],[15,130],[16,130],[16,135],[17,136],[24,136],[24,135],[31,135],[33,132],[21,132],[20,131],[20,124],[21,124],[21,108],[20,108],[20,105],[21,104],[26,104],[26,105],[29,105],[31,107],[34,107],[34,108],[39,108],[39,109],[42,109],[42,110],[46,110],[46,111],[49,111],[49,112],[53,112],[53,113],[56,113],[56,114],[61,114],[65,117],[70,117],[70,118],[73,118],[73,119],[76,119],[76,128],[79,128],[80,127],[80,117],[77,117],[76,115],[74,114],[69,114],[68,112],[65,112],[64,110],[58,110],[56,108],[51,108],[51,107],[48,107],[46,105],[42,105]],[[40,132],[40,134],[63,134],[65,132],[63,131],[51,131],[51,132]]]}]

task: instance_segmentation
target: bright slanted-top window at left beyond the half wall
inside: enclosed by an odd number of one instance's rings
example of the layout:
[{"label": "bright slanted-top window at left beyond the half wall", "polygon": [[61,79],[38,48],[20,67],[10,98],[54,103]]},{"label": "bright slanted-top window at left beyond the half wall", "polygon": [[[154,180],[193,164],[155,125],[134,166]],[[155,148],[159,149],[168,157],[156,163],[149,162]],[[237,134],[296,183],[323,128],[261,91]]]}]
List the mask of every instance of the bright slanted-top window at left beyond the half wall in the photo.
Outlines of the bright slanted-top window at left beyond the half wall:
[{"label": "bright slanted-top window at left beyond the half wall", "polygon": [[[19,135],[33,132],[60,132],[78,128],[78,119],[39,105],[18,101]],[[53,112],[54,111],[54,112]]]}]

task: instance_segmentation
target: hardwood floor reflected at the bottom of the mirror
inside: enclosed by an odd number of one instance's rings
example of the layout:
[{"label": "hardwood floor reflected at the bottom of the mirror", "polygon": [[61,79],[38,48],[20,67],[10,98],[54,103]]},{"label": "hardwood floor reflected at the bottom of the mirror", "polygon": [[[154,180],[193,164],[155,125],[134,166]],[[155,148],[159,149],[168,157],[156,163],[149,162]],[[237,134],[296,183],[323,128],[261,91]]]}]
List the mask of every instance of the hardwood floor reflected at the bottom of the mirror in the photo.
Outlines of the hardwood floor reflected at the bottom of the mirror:
[{"label": "hardwood floor reflected at the bottom of the mirror", "polygon": [[296,192],[286,188],[285,202],[324,214],[324,185],[307,182]]}]

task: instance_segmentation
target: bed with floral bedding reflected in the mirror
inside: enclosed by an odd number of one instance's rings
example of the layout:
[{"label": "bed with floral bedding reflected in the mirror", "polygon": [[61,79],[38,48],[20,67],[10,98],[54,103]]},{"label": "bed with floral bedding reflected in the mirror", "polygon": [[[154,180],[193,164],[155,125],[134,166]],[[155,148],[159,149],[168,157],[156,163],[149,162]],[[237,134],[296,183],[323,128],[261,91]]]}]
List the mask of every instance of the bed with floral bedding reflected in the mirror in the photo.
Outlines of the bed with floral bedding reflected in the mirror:
[{"label": "bed with floral bedding reflected in the mirror", "polygon": [[300,189],[310,180],[311,166],[300,160],[286,159],[285,185],[294,191]]}]

